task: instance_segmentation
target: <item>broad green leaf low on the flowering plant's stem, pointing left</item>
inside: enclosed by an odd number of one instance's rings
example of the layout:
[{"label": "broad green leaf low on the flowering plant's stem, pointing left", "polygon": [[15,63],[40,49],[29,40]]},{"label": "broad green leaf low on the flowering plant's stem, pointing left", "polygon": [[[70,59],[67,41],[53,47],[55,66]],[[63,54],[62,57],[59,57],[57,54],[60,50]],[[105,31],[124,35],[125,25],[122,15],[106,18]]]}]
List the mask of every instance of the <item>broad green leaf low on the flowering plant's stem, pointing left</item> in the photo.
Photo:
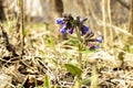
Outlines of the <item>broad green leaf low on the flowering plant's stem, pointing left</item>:
[{"label": "broad green leaf low on the flowering plant's stem, pointing left", "polygon": [[72,74],[72,75],[76,75],[78,77],[81,76],[81,74],[83,73],[82,69],[80,69],[79,67],[72,65],[72,64],[64,64],[64,67]]}]

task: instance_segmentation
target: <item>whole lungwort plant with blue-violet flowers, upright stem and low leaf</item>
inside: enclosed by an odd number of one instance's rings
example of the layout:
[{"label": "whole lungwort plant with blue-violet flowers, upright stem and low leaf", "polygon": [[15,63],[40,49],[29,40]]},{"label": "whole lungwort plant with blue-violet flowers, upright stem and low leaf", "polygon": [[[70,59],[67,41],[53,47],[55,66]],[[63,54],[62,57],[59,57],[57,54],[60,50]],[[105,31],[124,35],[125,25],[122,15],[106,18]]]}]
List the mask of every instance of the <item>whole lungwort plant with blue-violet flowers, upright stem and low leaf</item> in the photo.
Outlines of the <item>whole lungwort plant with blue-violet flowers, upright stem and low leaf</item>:
[{"label": "whole lungwort plant with blue-violet flowers, upright stem and low leaf", "polygon": [[[61,24],[62,28],[60,29],[60,32],[63,33],[63,34],[73,34],[75,33],[76,34],[76,38],[79,41],[79,69],[75,67],[75,66],[72,66],[72,65],[65,65],[65,68],[72,73],[72,72],[75,72],[75,75],[78,76],[78,84],[80,84],[80,76],[81,76],[81,73],[79,75],[79,72],[80,68],[82,68],[82,51],[84,48],[88,48],[89,50],[95,50],[95,48],[99,48],[100,47],[100,43],[102,43],[102,35],[99,35],[99,37],[94,38],[94,33],[93,31],[91,31],[89,29],[89,26],[86,26],[84,24],[84,22],[86,21],[88,19],[81,19],[80,16],[75,16],[73,18],[71,14],[64,14],[63,18],[58,18],[55,20],[57,24]],[[98,43],[92,43],[92,42],[98,42]],[[76,70],[78,69],[78,70]],[[73,73],[72,73],[73,74]],[[79,87],[80,88],[80,85]]]}]

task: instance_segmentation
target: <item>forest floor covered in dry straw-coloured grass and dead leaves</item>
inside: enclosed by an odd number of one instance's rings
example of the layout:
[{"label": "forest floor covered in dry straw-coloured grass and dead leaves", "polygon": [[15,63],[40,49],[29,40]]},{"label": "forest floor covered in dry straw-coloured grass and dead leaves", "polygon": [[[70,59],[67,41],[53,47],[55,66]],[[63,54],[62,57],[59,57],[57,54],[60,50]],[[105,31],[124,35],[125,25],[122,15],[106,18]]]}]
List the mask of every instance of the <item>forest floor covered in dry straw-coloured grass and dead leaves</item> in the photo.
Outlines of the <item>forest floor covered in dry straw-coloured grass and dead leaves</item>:
[{"label": "forest floor covered in dry straw-coloured grass and dead leaves", "polygon": [[[48,77],[51,88],[75,88],[75,76],[64,64],[78,65],[78,47],[73,40],[59,41],[49,25],[35,23],[24,28],[24,55],[17,46],[14,24],[7,22],[3,30],[18,55],[2,54],[0,46],[0,88],[44,88]],[[106,51],[84,51],[82,55],[82,88],[133,88],[133,45]],[[121,45],[123,42],[120,43]],[[4,46],[4,45],[3,45]],[[6,50],[7,51],[7,50]],[[8,84],[7,84],[8,82]]]}]

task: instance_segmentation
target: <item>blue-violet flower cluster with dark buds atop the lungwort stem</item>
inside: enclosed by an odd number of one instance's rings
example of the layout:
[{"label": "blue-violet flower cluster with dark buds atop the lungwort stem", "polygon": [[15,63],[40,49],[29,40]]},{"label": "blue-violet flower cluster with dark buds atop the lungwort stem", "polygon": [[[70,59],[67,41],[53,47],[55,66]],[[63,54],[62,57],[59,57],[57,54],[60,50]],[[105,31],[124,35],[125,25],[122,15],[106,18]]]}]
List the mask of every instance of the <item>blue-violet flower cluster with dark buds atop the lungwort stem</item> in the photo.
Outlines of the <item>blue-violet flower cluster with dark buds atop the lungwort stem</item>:
[{"label": "blue-violet flower cluster with dark buds atop the lungwort stem", "polygon": [[73,34],[74,30],[79,30],[81,36],[84,36],[85,44],[88,44],[90,48],[99,48],[99,45],[95,45],[91,42],[102,43],[103,37],[100,35],[98,38],[92,38],[94,36],[94,33],[89,30],[89,26],[83,24],[86,20],[88,19],[81,20],[80,16],[76,16],[74,19],[71,14],[64,14],[63,18],[58,18],[55,20],[55,23],[62,25],[60,32],[63,34]]}]

